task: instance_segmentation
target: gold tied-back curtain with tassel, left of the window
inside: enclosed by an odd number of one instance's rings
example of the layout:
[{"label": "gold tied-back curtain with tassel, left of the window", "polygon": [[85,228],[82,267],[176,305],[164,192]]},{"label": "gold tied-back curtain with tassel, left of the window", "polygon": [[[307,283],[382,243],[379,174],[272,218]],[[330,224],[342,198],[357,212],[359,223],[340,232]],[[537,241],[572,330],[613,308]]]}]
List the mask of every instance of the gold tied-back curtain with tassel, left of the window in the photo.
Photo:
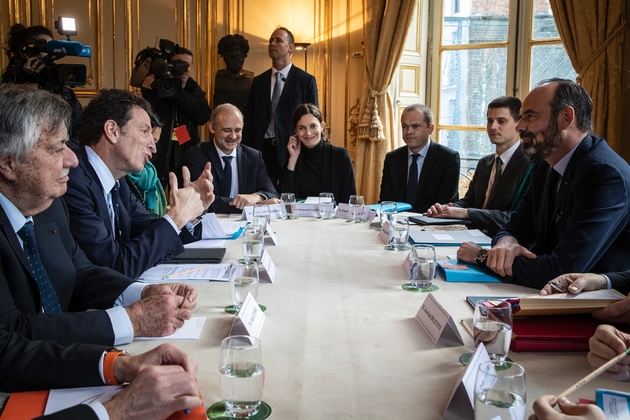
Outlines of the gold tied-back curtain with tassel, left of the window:
[{"label": "gold tied-back curtain with tassel, left of the window", "polygon": [[366,78],[356,146],[357,189],[366,203],[378,201],[385,154],[395,135],[387,93],[403,51],[416,0],[363,0]]}]

